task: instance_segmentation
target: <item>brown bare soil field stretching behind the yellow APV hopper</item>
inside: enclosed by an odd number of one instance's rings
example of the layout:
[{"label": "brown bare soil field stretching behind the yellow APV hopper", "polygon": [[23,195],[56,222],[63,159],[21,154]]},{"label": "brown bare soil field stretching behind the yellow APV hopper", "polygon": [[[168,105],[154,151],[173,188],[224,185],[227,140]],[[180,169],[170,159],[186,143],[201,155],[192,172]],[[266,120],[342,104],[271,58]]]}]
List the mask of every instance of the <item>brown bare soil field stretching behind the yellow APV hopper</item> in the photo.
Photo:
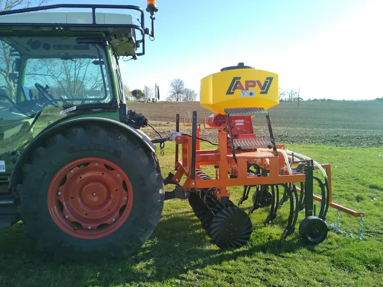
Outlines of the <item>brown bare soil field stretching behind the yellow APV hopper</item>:
[{"label": "brown bare soil field stretching behind the yellow APV hopper", "polygon": [[[191,121],[197,111],[201,124],[201,137],[216,141],[215,130],[204,130],[204,117],[212,114],[201,108],[199,102],[128,103],[128,108],[143,113],[163,136],[175,130],[175,116],[180,114],[181,132],[183,118]],[[304,101],[283,102],[269,109],[271,124],[277,142],[285,144],[314,144],[338,147],[382,147],[383,103],[381,101]],[[264,116],[253,118],[258,136],[268,134]],[[143,129],[152,138],[158,135],[151,129]]]}]

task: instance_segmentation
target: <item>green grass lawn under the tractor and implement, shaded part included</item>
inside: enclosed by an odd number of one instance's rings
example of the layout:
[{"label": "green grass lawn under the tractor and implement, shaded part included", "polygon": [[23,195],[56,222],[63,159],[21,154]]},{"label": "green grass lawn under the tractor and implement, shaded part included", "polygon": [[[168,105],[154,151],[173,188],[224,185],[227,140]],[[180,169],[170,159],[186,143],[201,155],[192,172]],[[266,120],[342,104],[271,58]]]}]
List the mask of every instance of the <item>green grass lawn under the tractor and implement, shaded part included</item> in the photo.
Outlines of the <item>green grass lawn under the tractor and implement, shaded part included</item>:
[{"label": "green grass lawn under the tractor and implement, shaded part included", "polygon": [[[207,148],[208,146],[203,145]],[[362,241],[329,232],[315,247],[297,230],[279,244],[287,219],[263,227],[268,209],[251,215],[249,244],[220,251],[211,244],[187,201],[166,201],[153,235],[133,256],[103,264],[56,263],[34,251],[22,224],[0,230],[0,286],[383,286],[383,150],[288,145],[333,166],[334,201],[366,213]],[[379,157],[379,154],[382,156]],[[163,175],[173,167],[174,144],[159,156]],[[240,188],[231,188],[234,202]],[[244,208],[248,210],[250,200]],[[303,219],[300,215],[298,223]],[[329,211],[328,220],[336,220]],[[342,214],[342,229],[357,232],[357,219]]]}]

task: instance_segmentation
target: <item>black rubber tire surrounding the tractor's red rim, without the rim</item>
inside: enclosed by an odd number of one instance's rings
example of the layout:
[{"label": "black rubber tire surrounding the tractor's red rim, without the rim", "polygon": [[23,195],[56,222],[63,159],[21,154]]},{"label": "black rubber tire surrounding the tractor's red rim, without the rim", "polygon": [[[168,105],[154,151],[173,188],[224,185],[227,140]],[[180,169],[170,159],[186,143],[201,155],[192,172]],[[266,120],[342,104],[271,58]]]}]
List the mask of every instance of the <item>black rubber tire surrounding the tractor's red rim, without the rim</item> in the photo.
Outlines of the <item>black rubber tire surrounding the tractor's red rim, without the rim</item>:
[{"label": "black rubber tire surrounding the tractor's red rim, without the rim", "polygon": [[[51,179],[67,163],[85,157],[109,160],[121,168],[132,185],[133,206],[125,223],[98,239],[79,239],[53,221],[47,204]],[[149,238],[164,204],[164,185],[155,153],[140,139],[110,126],[82,125],[54,134],[36,148],[23,167],[16,188],[18,212],[37,246],[54,252],[59,260],[102,261],[126,257]]]}]

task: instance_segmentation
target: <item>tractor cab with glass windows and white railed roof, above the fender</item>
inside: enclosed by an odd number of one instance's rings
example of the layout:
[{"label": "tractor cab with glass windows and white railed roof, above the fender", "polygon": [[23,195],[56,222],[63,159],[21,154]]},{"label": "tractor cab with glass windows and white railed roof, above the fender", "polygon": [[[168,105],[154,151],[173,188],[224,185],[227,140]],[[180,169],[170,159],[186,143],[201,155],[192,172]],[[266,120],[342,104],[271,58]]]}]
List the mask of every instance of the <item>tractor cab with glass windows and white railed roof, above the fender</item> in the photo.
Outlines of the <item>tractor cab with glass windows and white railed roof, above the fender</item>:
[{"label": "tractor cab with glass windows and white railed roof, above the fender", "polygon": [[[82,11],[52,12],[62,8]],[[127,11],[139,14],[139,25]],[[0,175],[10,175],[17,155],[57,121],[97,114],[129,124],[118,59],[145,54],[145,35],[154,37],[156,6],[147,11],[152,29],[145,28],[143,9],[131,5],[0,13]],[[138,119],[135,128],[144,122]]]}]

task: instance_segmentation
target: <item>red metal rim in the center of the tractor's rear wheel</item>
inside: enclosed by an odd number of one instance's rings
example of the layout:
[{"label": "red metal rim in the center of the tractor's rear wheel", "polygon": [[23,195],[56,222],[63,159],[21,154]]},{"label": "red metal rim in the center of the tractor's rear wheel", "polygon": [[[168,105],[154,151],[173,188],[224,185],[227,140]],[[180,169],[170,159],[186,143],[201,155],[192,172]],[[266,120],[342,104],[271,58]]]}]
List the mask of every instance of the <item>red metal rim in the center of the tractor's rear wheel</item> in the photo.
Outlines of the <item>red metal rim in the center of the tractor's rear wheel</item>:
[{"label": "red metal rim in the center of the tractor's rear wheel", "polygon": [[48,189],[48,209],[56,225],[81,239],[115,232],[129,217],[133,189],[128,176],[109,160],[74,160],[57,172]]}]

